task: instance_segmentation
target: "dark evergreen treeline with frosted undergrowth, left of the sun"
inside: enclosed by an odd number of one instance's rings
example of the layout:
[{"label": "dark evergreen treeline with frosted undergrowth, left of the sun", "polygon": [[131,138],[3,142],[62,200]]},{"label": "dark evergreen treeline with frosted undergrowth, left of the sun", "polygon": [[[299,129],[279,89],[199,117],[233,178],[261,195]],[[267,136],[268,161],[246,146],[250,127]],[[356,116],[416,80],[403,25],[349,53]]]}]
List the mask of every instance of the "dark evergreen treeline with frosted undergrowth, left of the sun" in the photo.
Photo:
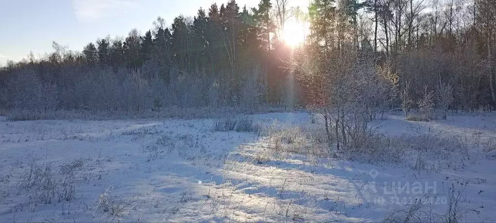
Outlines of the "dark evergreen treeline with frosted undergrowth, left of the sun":
[{"label": "dark evergreen treeline with frosted undergrowth, left of the sun", "polygon": [[280,58],[290,48],[271,38],[273,10],[270,0],[251,9],[230,0],[200,8],[193,18],[180,15],[170,26],[159,17],[144,34],[133,29],[124,39],[98,39],[81,52],[54,43],[49,55],[31,54],[1,69],[0,108],[253,112],[262,103],[278,104],[286,79]]}]

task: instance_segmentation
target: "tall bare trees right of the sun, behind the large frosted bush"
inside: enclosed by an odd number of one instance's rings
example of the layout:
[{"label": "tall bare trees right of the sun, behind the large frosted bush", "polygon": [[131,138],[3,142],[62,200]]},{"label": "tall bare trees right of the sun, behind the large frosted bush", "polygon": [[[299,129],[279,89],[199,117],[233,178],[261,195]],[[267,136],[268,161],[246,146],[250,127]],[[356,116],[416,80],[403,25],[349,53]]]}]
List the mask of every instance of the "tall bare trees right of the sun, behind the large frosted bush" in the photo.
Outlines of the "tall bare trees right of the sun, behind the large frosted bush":
[{"label": "tall bare trees right of the sun, behind the large frosted bush", "polygon": [[419,108],[444,86],[449,109],[496,108],[496,1],[313,0],[309,21],[303,51],[330,58],[354,46],[376,65],[390,64],[396,107]]}]

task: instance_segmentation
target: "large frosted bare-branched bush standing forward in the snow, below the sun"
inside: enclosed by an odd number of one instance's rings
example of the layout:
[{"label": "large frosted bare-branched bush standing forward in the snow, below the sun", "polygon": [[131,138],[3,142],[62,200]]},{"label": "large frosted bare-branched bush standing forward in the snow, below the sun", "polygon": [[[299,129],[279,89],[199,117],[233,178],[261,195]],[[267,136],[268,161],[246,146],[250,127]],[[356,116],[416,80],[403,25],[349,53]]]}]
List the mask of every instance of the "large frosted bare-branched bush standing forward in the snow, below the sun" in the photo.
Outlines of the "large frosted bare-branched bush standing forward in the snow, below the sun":
[{"label": "large frosted bare-branched bush standing forward in the snow, below the sun", "polygon": [[[306,88],[308,108],[324,118],[329,149],[365,145],[368,122],[397,98],[399,78],[391,64],[381,64],[352,45],[324,55],[307,48],[295,57],[293,69]],[[331,135],[336,143],[329,140]]]}]

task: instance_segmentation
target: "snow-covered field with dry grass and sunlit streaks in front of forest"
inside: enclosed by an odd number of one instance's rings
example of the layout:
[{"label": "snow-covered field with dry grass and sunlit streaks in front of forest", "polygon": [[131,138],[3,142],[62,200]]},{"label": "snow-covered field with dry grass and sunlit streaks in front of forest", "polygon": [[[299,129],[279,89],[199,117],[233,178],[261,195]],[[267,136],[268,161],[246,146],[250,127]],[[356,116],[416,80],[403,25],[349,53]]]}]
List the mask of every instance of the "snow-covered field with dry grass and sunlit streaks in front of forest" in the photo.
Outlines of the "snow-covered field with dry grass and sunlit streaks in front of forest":
[{"label": "snow-covered field with dry grass and sunlit streaks in front of forest", "polygon": [[[311,125],[303,112],[254,118]],[[214,121],[0,120],[0,222],[376,222],[423,196],[446,213],[459,191],[464,221],[496,221],[493,114],[376,120],[378,131],[411,140],[399,145],[444,149],[433,159],[401,148],[402,162],[373,165],[272,156],[271,137],[214,132]]]}]

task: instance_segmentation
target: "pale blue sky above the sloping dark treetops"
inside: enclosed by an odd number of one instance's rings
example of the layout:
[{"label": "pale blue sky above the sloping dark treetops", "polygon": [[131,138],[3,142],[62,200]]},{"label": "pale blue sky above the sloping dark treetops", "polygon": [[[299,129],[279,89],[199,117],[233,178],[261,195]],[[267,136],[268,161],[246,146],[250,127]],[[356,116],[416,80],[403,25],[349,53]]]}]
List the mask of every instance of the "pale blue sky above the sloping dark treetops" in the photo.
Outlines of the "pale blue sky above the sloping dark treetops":
[{"label": "pale blue sky above the sloping dark treetops", "polygon": [[[0,0],[0,63],[18,61],[30,51],[35,56],[52,51],[52,41],[81,51],[89,42],[110,34],[126,36],[132,28],[142,33],[161,16],[167,25],[183,14],[194,16],[200,7],[228,0]],[[259,0],[237,0],[254,7]],[[307,2],[307,3],[305,3]],[[290,0],[308,5],[308,0]]]}]

